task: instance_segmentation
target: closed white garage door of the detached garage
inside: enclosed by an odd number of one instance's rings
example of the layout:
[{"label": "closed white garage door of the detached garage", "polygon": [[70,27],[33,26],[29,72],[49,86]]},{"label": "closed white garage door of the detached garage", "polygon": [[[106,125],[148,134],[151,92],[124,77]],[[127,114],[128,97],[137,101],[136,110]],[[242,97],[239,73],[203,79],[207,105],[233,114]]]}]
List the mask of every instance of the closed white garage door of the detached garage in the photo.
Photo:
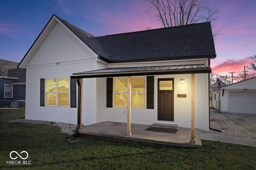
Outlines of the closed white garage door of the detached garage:
[{"label": "closed white garage door of the detached garage", "polygon": [[256,114],[256,91],[229,91],[228,112]]}]

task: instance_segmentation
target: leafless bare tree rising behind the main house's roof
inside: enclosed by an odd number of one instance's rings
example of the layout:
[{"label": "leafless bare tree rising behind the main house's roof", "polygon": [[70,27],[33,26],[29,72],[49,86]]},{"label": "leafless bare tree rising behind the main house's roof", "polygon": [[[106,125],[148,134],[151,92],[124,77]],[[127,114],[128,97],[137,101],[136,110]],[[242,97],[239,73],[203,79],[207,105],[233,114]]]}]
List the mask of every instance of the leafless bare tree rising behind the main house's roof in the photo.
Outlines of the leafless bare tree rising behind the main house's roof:
[{"label": "leafless bare tree rising behind the main house's roof", "polygon": [[[154,12],[154,21],[164,27],[182,26],[197,22],[218,20],[217,9],[209,8],[206,0],[145,0],[148,11]],[[223,35],[222,28],[213,32],[213,37]]]}]

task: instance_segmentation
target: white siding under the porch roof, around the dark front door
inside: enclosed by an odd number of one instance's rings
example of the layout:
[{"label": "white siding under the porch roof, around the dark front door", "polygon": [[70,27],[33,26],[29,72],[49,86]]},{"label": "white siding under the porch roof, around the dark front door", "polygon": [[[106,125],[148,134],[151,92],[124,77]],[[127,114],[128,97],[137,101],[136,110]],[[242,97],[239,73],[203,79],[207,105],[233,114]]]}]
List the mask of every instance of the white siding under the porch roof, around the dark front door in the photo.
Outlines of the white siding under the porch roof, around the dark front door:
[{"label": "white siding under the porch roof, around the dark front door", "polygon": [[[157,79],[174,78],[174,121],[157,120]],[[185,84],[180,84],[185,79]],[[145,125],[153,123],[177,124],[178,127],[191,127],[191,74],[158,75],[154,79],[154,109],[132,108],[131,122]],[[209,130],[209,104],[208,104],[208,74],[195,75],[195,127]],[[186,98],[178,98],[178,94],[186,94]],[[126,123],[126,107],[107,108],[107,121]]]}]

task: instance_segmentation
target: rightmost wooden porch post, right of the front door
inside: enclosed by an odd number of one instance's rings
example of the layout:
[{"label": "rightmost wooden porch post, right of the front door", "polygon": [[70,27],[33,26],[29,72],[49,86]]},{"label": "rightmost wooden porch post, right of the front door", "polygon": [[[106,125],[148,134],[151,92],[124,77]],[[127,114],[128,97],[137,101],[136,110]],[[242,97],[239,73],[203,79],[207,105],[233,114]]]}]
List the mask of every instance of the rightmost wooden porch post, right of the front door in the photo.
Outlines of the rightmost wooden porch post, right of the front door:
[{"label": "rightmost wooden porch post, right of the front door", "polygon": [[190,143],[196,143],[195,140],[195,74],[191,74],[191,139]]}]

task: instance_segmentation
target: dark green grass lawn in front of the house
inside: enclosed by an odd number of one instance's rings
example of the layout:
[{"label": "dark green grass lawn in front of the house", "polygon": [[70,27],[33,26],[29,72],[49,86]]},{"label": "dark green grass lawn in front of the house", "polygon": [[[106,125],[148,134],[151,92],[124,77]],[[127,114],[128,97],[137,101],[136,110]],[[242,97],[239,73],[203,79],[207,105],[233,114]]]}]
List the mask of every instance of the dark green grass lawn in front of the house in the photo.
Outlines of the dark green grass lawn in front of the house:
[{"label": "dark green grass lawn in front of the house", "polygon": [[[0,109],[0,169],[62,170],[62,169],[139,169],[139,170],[255,170],[256,147],[210,142],[203,148],[120,143],[91,138],[66,140],[68,134],[60,127],[8,123],[24,117],[24,110]],[[6,164],[9,154],[25,150],[30,164]],[[13,153],[12,157],[17,156]],[[22,153],[21,156],[26,157]],[[23,160],[18,157],[16,161]],[[30,161],[30,162],[28,162]]]}]

